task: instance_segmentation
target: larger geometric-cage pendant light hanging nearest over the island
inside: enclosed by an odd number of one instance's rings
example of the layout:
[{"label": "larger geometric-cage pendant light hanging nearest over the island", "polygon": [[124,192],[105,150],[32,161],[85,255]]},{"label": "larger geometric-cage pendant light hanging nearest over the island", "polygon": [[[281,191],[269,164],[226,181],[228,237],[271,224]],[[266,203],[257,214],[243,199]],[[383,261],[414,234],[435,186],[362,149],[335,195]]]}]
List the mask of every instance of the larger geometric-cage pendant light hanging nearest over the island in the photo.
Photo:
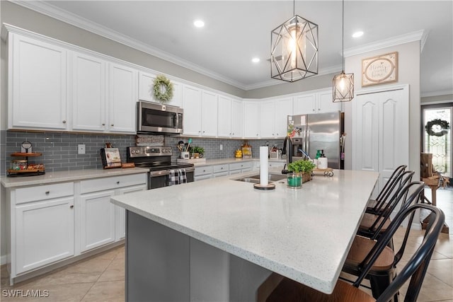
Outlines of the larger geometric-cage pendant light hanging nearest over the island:
[{"label": "larger geometric-cage pendant light hanging nearest over the island", "polygon": [[270,76],[294,82],[318,74],[318,25],[295,14],[270,32]]}]

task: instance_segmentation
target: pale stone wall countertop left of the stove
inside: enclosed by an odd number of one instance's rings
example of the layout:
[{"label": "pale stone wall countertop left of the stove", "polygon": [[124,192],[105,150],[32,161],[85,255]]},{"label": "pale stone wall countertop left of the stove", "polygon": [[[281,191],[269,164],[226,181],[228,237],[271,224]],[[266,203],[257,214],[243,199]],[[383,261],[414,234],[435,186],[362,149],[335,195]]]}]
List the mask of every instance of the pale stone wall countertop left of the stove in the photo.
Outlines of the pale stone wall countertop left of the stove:
[{"label": "pale stone wall countertop left of the stove", "polygon": [[44,185],[55,182],[67,182],[74,180],[85,180],[90,178],[105,178],[117,175],[146,173],[148,171],[149,169],[144,168],[71,170],[45,173],[44,175],[36,176],[23,176],[23,177],[1,176],[0,181],[1,185],[3,185],[4,187],[24,187],[28,185]]}]

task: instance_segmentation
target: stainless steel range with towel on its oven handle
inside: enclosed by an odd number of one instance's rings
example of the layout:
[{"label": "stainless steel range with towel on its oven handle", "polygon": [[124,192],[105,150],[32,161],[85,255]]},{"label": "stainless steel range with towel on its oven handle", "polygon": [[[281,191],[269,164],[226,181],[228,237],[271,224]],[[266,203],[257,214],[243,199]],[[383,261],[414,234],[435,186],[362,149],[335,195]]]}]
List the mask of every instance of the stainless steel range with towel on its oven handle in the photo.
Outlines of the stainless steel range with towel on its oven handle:
[{"label": "stainless steel range with towel on its oven handle", "polygon": [[136,167],[149,168],[148,189],[166,187],[171,170],[185,169],[188,182],[193,182],[192,163],[172,163],[170,146],[127,147],[127,162]]}]

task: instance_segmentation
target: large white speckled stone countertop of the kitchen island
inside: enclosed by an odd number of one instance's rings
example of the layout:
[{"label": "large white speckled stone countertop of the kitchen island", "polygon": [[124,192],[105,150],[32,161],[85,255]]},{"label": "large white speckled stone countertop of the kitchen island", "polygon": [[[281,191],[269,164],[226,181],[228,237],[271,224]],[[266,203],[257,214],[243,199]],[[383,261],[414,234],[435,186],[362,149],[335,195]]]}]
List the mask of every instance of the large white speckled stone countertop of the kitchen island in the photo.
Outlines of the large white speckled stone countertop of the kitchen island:
[{"label": "large white speckled stone countertop of the kitchen island", "polygon": [[115,196],[114,204],[220,250],[331,293],[378,173],[334,170],[302,189],[253,189],[228,175]]}]

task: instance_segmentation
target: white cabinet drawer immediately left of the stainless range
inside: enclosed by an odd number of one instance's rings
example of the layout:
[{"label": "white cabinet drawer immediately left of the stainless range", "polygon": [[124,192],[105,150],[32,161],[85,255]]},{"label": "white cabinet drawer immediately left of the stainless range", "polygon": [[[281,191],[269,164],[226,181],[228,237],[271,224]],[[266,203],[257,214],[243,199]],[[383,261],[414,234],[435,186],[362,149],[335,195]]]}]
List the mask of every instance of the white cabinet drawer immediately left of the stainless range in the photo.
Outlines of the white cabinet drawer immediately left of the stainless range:
[{"label": "white cabinet drawer immediately left of the stainless range", "polygon": [[130,185],[141,185],[147,183],[145,175],[146,174],[132,174],[82,180],[80,182],[80,192],[81,194],[84,194],[88,192],[116,189],[118,187],[129,187]]}]

